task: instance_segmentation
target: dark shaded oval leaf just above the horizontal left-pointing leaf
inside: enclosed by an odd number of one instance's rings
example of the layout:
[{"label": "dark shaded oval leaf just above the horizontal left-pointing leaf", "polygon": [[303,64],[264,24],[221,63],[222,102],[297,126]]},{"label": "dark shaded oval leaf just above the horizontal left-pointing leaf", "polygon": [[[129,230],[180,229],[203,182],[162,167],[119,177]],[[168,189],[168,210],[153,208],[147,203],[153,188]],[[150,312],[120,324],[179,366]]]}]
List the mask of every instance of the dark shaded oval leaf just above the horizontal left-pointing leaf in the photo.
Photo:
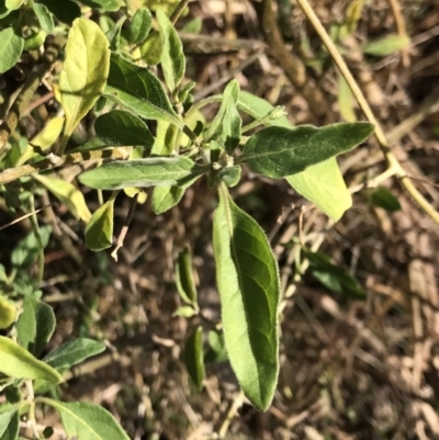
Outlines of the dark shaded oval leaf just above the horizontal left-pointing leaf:
[{"label": "dark shaded oval leaf just above the horizontal left-pointing leaf", "polygon": [[94,123],[99,138],[112,146],[153,147],[154,137],[146,124],[132,113],[113,110],[102,114]]}]

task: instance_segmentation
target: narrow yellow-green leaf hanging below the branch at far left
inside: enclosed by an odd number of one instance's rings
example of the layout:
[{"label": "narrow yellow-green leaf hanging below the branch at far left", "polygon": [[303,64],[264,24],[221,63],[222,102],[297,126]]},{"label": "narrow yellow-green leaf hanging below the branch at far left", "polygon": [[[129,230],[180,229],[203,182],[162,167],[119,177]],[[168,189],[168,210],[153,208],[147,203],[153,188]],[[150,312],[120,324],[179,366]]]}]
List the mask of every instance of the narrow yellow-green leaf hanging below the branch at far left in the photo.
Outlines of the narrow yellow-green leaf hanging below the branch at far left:
[{"label": "narrow yellow-green leaf hanging below the branch at far left", "polygon": [[50,191],[76,218],[86,223],[90,221],[91,213],[83,194],[72,183],[43,174],[34,174],[34,179]]}]

